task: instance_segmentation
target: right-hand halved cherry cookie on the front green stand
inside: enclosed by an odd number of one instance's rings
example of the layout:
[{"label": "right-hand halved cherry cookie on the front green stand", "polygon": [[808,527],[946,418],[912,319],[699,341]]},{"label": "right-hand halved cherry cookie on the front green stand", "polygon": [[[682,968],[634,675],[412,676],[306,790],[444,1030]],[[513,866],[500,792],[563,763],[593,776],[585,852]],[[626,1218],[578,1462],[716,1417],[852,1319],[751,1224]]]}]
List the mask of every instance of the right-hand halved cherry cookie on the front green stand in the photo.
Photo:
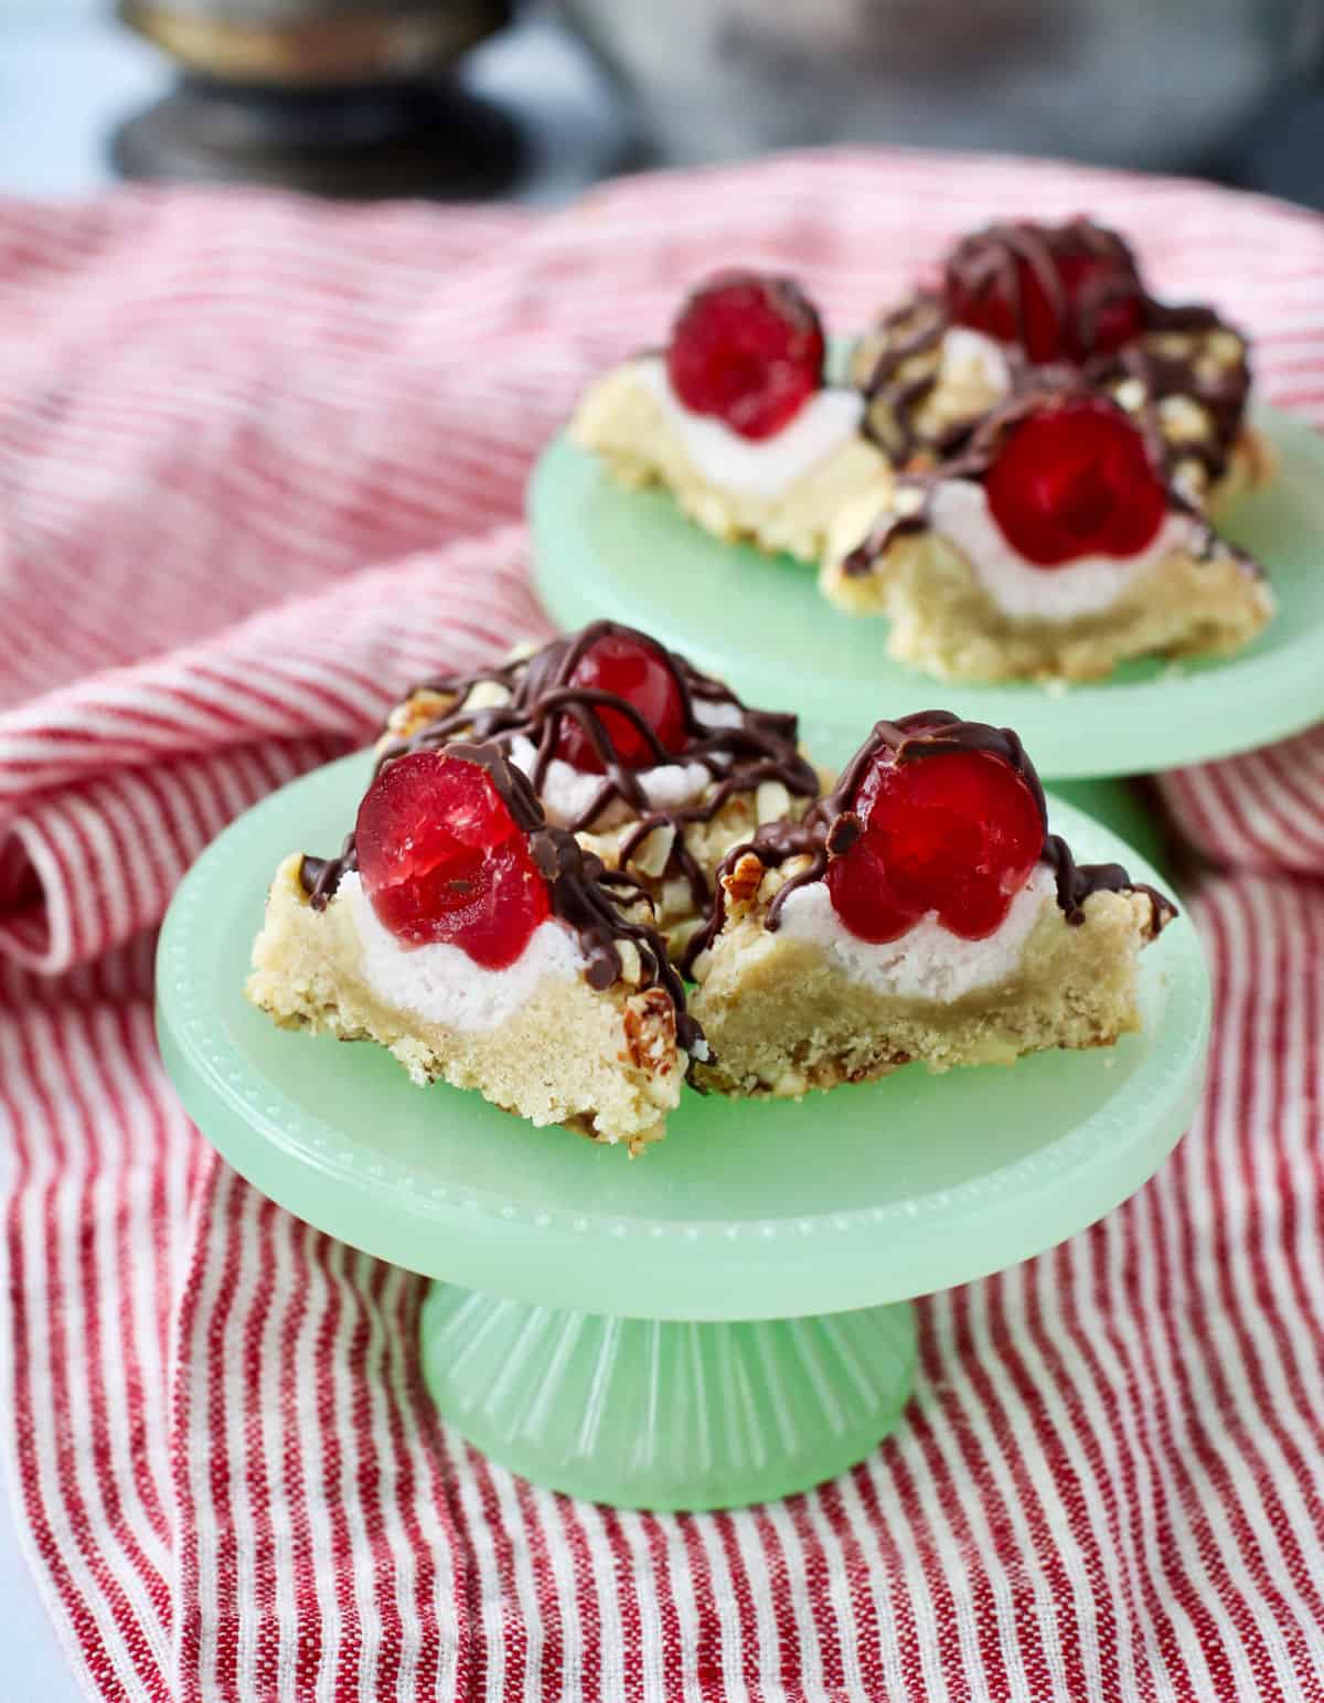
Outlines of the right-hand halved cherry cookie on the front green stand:
[{"label": "right-hand halved cherry cookie on the front green stand", "polygon": [[802,824],[732,852],[693,1000],[696,1081],[800,1097],[917,1061],[1011,1064],[1140,1027],[1137,957],[1174,916],[1077,865],[1007,729],[878,722]]}]

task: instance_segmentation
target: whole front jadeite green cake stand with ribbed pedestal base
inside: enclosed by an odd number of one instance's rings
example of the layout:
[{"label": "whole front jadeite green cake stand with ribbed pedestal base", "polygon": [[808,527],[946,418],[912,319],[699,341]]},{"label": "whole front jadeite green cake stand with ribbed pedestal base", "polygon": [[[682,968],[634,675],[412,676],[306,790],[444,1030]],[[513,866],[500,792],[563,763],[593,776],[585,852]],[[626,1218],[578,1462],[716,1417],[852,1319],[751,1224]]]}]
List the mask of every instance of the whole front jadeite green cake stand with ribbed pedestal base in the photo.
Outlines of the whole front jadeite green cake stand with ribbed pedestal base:
[{"label": "whole front jadeite green cake stand with ribbed pedestal base", "polygon": [[[158,1034],[204,1134],[300,1218],[439,1279],[422,1356],[441,1413],[534,1483],[623,1507],[802,1490],[897,1424],[910,1299],[1108,1213],[1190,1121],[1210,995],[1179,918],[1142,959],[1145,1027],[1013,1069],[899,1071],[802,1104],[686,1093],[638,1160],[415,1088],[373,1046],[274,1029],[242,998],[267,880],[337,846],[371,758],[228,828],[162,933]],[[1053,804],[1089,860],[1111,833]]]}]

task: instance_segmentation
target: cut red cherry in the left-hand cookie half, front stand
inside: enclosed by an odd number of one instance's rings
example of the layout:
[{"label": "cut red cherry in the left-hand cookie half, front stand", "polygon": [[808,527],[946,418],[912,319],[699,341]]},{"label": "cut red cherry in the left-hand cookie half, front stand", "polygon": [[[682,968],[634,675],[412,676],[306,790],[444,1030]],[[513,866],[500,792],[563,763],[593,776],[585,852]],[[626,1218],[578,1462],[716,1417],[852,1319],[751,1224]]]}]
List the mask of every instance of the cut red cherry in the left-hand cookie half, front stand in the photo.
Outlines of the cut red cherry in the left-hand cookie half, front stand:
[{"label": "cut red cherry in the left-hand cookie half, front stand", "polygon": [[378,920],[408,945],[459,947],[505,969],[551,911],[528,836],[477,763],[412,751],[364,794],[354,831]]}]

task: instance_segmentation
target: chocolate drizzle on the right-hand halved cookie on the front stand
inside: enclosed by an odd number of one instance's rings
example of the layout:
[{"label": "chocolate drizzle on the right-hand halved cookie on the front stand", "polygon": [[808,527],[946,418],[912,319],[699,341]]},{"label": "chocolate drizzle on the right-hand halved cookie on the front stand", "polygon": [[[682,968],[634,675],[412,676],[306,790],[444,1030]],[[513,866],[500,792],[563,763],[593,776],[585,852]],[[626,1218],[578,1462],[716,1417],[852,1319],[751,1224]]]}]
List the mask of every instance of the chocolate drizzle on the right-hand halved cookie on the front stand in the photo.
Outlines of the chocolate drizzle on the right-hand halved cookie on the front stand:
[{"label": "chocolate drizzle on the right-hand halved cookie on the front stand", "polygon": [[790,858],[807,857],[808,863],[778,887],[764,916],[764,928],[774,933],[781,925],[781,909],[798,889],[822,880],[834,857],[849,852],[865,833],[865,823],[854,811],[856,794],[880,753],[890,753],[893,763],[916,763],[924,758],[946,756],[953,751],[989,751],[1002,758],[1024,780],[1043,823],[1043,848],[1040,862],[1053,870],[1057,904],[1067,923],[1084,921],[1084,901],[1091,892],[1144,892],[1150,901],[1150,938],[1178,915],[1171,899],[1156,887],[1133,882],[1120,863],[1077,863],[1060,834],[1048,833],[1048,811],[1043,787],[1024,746],[1009,727],[989,727],[985,722],[963,722],[948,710],[917,710],[899,722],[876,722],[873,732],[856,751],[841,773],[832,792],[822,799],[800,823],[769,823],[750,841],[735,846],[722,862],[716,896],[708,923],[689,942],[686,972],[694,960],[711,947],[727,916],[727,892],[722,877],[754,855],[764,869],[779,869]]}]

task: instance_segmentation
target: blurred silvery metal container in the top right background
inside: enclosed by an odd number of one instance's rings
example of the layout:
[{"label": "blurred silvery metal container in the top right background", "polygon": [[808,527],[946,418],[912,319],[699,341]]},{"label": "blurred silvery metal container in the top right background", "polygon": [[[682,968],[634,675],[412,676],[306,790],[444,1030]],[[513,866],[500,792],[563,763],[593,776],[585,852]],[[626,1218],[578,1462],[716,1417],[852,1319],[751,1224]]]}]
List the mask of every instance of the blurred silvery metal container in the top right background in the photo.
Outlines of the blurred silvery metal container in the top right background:
[{"label": "blurred silvery metal container in the top right background", "polygon": [[1186,169],[1324,49],[1324,0],[562,0],[674,160],[830,141]]}]

